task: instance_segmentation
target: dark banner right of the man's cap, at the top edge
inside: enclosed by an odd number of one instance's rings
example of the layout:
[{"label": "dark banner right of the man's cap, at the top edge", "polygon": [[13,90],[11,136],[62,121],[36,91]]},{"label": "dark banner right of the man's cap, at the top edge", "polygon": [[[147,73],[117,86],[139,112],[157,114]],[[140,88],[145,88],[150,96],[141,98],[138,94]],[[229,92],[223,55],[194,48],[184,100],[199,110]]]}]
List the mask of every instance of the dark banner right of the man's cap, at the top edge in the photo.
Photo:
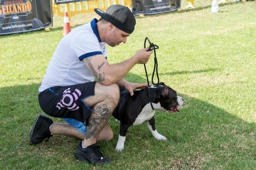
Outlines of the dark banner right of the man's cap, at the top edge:
[{"label": "dark banner right of the man's cap, at the top edge", "polygon": [[180,8],[181,0],[132,0],[132,13],[159,14],[175,11]]}]

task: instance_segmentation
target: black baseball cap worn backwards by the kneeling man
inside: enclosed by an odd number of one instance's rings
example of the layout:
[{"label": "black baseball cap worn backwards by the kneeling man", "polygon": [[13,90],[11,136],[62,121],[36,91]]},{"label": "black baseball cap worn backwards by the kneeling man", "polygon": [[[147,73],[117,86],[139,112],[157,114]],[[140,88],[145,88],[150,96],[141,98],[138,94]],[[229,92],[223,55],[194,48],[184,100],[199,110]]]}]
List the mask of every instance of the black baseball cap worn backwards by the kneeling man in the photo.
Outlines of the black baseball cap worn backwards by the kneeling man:
[{"label": "black baseball cap worn backwards by the kneeling man", "polygon": [[122,5],[112,5],[106,12],[95,8],[94,11],[122,31],[131,34],[136,24],[135,17],[129,8]]}]

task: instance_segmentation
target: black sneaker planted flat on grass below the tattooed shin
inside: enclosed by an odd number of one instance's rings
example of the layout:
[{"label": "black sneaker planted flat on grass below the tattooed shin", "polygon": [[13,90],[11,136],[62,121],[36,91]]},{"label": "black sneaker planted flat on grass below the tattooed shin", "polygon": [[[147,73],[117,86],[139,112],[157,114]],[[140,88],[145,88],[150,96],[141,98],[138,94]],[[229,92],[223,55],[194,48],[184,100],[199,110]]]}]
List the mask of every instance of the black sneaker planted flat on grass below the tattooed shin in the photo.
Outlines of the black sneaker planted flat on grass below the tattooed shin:
[{"label": "black sneaker planted flat on grass below the tattooed shin", "polygon": [[82,142],[79,143],[76,148],[75,158],[77,160],[86,161],[92,164],[103,164],[111,163],[111,159],[103,157],[102,153],[99,152],[99,146],[97,143],[87,146],[85,149],[82,148]]}]

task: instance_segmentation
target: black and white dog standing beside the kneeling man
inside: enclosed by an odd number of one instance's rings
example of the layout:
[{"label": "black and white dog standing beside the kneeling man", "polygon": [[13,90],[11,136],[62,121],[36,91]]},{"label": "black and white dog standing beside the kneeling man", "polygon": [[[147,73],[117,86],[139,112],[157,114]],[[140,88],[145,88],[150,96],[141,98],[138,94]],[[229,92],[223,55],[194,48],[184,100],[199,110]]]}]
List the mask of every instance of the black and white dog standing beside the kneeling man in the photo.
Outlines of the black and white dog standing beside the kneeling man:
[{"label": "black and white dog standing beside the kneeling man", "polygon": [[120,121],[119,139],[115,149],[122,151],[127,130],[132,125],[140,125],[147,121],[147,126],[152,135],[158,140],[167,140],[155,129],[155,110],[167,111],[170,113],[180,112],[178,109],[183,105],[184,99],[177,96],[176,91],[165,85],[163,82],[150,87],[150,105],[148,88],[134,90],[131,96],[126,90],[121,90],[120,100],[112,115]]}]

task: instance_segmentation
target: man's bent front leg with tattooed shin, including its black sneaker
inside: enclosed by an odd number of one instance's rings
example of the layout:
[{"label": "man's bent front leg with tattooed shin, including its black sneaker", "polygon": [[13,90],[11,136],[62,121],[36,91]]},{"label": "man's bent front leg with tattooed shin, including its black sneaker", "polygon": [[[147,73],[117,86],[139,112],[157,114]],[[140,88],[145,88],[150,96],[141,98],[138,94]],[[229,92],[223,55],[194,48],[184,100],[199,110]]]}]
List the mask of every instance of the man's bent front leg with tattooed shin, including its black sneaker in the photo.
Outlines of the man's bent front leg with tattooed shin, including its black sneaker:
[{"label": "man's bent front leg with tattooed shin, including its black sneaker", "polygon": [[[87,106],[92,108],[92,113],[88,118],[85,138],[79,143],[74,156],[78,160],[93,164],[111,163],[112,160],[104,157],[99,151],[96,141],[104,127],[108,127],[106,124],[119,102],[120,91],[116,84],[105,86],[97,82],[94,93],[94,96],[83,100]],[[102,132],[102,134],[104,133]]]}]

